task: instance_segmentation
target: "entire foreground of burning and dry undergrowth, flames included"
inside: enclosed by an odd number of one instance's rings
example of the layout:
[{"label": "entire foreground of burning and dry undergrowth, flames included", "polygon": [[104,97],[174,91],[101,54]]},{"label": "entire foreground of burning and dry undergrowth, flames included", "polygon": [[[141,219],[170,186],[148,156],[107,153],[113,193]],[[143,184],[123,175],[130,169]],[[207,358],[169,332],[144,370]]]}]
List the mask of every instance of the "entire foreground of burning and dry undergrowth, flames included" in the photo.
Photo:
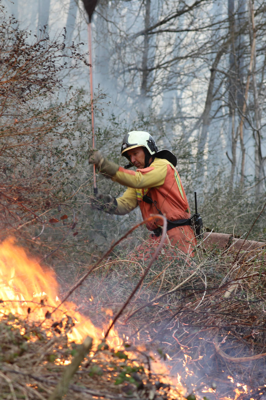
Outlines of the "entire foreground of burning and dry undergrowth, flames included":
[{"label": "entire foreground of burning and dry undergrowth, flames included", "polygon": [[[106,336],[107,315],[112,314],[107,307],[116,312],[118,292],[120,304],[126,301],[136,283],[133,278],[123,291],[116,284],[106,296],[107,280],[114,280],[118,273],[106,263],[102,276],[95,273],[94,287],[83,285],[85,291],[79,291],[77,304],[83,297],[80,314],[74,302],[60,302],[53,270],[41,268],[12,240],[2,242],[1,398],[264,398],[263,256],[261,250],[252,263],[248,254],[231,259],[234,263],[223,279],[217,267],[212,286],[207,285],[203,264],[188,266],[179,260],[180,282],[175,281],[175,287],[173,259],[168,264],[164,260],[164,269],[158,272],[159,257],[149,271],[148,283],[140,287],[120,318],[118,331],[111,329]],[[208,257],[205,265],[211,262]],[[140,267],[126,264],[124,260],[120,282],[126,281],[129,272],[133,277]],[[97,282],[105,290],[101,306]],[[105,325],[99,327],[97,314],[103,313]]]}]

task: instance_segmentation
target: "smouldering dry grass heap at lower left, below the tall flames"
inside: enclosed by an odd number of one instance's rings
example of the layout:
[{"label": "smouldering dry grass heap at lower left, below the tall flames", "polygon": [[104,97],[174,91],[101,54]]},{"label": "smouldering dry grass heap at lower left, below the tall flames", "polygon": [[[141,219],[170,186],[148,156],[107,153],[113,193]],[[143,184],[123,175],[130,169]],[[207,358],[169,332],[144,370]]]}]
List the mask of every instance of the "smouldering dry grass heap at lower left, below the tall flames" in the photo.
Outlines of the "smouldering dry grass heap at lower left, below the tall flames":
[{"label": "smouldering dry grass heap at lower left, below the tall flames", "polygon": [[[24,334],[20,333],[22,328]],[[2,400],[49,399],[68,368],[64,363],[72,362],[78,350],[78,345],[68,342],[63,328],[58,334],[11,314],[1,320],[0,343]],[[151,372],[151,362],[148,354],[136,348],[124,353],[103,343],[83,359],[64,399],[183,399],[175,388],[170,393],[162,374]]]}]

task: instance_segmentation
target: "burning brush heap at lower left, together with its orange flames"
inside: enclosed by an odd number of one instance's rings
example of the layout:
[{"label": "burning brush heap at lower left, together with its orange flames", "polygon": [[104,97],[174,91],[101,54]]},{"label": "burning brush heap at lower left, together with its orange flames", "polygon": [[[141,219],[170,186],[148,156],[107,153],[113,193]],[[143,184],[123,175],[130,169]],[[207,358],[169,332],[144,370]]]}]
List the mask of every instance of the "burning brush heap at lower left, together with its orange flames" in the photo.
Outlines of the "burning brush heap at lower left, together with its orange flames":
[{"label": "burning brush heap at lower left, together with its orange flames", "polygon": [[0,252],[2,399],[52,400],[65,392],[69,399],[183,398],[183,389],[173,388],[155,356],[133,348],[114,330],[105,340],[104,327],[76,312],[75,304],[60,304],[52,270],[44,272],[12,240]]}]

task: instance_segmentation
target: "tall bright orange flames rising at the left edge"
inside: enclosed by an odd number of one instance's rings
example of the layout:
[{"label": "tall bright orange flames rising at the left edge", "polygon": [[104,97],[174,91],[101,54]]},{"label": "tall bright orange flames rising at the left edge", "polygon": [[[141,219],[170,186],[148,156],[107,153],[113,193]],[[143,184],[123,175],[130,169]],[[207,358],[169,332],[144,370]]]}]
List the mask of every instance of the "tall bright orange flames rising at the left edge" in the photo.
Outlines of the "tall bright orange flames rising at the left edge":
[{"label": "tall bright orange flames rising at the left edge", "polygon": [[[67,333],[68,338],[81,343],[90,336],[98,345],[104,336],[103,331],[75,311],[77,306],[74,303],[65,302],[60,310],[52,313],[60,304],[58,292],[53,270],[44,271],[36,260],[28,258],[23,248],[14,245],[12,238],[0,244],[0,315],[12,313],[34,322],[43,322],[48,315],[50,325],[70,316],[75,325]],[[108,341],[113,348],[123,343],[114,330],[110,332]]]}]

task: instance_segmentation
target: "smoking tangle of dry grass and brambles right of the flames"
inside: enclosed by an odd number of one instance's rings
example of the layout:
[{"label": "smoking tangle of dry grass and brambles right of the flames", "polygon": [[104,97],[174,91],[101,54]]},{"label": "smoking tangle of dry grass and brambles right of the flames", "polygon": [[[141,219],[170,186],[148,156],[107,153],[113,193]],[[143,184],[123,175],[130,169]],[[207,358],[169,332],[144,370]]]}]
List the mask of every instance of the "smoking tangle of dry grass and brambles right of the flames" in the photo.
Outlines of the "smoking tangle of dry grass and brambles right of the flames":
[{"label": "smoking tangle of dry grass and brambles right of the flames", "polygon": [[[92,293],[84,312],[104,320],[103,308],[116,314],[147,265],[129,257],[109,260],[89,277],[76,301]],[[256,253],[207,251],[203,244],[191,261],[172,249],[160,256],[117,324],[133,343],[145,342],[169,354],[173,372],[184,360],[193,372],[187,386],[217,384],[210,398],[231,395],[236,383],[249,394],[264,392],[266,368],[265,250]],[[80,297],[81,296],[81,297]],[[93,310],[93,311],[92,311]],[[97,323],[97,322],[96,322]],[[183,375],[184,377],[184,375]],[[250,392],[251,391],[251,392]],[[213,396],[213,397],[211,397]],[[254,397],[256,398],[256,396]]]}]

